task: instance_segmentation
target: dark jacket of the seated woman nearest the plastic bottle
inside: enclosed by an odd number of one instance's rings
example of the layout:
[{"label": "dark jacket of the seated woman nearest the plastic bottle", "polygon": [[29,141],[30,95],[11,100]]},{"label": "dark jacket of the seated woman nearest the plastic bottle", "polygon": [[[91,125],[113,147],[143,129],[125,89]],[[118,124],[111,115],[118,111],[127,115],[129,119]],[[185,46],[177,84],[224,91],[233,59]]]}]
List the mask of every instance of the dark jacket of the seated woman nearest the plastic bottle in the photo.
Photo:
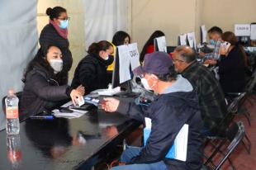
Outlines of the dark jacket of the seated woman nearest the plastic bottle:
[{"label": "dark jacket of the seated woman nearest the plastic bottle", "polygon": [[21,114],[30,116],[47,111],[58,102],[69,99],[71,90],[67,85],[59,86],[44,67],[36,64],[26,75],[21,97]]}]

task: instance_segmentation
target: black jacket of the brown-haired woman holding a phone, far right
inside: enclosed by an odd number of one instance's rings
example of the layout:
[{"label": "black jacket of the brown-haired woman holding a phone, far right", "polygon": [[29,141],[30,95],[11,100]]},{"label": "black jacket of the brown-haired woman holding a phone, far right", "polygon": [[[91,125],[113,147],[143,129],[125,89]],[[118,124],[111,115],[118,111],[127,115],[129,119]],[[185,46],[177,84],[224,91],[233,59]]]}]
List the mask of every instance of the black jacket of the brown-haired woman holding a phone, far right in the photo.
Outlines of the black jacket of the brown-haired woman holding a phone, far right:
[{"label": "black jacket of the brown-haired woman holding a phone, far right", "polygon": [[219,74],[224,92],[244,92],[244,57],[238,46],[230,50],[227,56],[220,56]]}]

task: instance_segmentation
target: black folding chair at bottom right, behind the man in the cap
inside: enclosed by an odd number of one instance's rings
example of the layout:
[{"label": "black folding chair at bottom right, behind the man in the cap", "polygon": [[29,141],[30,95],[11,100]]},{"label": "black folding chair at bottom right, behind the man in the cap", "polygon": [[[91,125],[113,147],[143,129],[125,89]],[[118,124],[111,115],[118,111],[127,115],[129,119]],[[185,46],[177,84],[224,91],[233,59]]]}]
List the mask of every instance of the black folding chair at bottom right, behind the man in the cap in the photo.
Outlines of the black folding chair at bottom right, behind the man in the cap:
[{"label": "black folding chair at bottom right, behind the man in the cap", "polygon": [[[230,128],[226,131],[226,137],[223,141],[218,144],[216,149],[211,153],[211,156],[206,160],[201,170],[219,170],[220,167],[229,160],[230,154],[235,150],[236,146],[242,142],[244,139],[244,124],[243,122],[233,123]],[[230,144],[225,147],[225,143]],[[217,153],[223,155],[218,163],[214,163]],[[209,165],[211,163],[211,166]],[[230,161],[233,169],[235,169],[234,164]]]}]

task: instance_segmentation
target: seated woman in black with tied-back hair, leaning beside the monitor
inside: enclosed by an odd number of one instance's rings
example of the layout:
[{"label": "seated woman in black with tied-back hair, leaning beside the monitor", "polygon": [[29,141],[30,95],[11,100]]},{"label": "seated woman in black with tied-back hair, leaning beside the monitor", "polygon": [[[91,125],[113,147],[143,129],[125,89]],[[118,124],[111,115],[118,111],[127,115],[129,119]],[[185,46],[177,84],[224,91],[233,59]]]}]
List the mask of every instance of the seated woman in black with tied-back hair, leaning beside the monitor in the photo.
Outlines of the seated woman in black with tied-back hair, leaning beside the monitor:
[{"label": "seated woman in black with tied-back hair, leaning beside the monitor", "polygon": [[107,88],[110,82],[107,78],[107,66],[113,62],[113,46],[107,40],[92,43],[88,55],[78,64],[72,81],[72,87],[80,84],[85,87],[86,94],[97,89]]}]

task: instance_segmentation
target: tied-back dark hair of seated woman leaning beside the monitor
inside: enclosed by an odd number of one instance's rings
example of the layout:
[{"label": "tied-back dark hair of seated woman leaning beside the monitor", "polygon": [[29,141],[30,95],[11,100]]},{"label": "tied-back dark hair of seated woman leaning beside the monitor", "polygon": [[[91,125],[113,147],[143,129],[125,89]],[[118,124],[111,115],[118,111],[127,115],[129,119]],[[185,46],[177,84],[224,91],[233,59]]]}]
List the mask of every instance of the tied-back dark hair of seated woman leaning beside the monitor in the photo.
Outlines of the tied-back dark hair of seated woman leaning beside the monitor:
[{"label": "tied-back dark hair of seated woman leaning beside the monitor", "polygon": [[113,47],[110,42],[107,40],[101,40],[97,43],[92,43],[92,45],[89,46],[88,48],[88,54],[99,54],[101,50],[106,51],[110,47]]}]

